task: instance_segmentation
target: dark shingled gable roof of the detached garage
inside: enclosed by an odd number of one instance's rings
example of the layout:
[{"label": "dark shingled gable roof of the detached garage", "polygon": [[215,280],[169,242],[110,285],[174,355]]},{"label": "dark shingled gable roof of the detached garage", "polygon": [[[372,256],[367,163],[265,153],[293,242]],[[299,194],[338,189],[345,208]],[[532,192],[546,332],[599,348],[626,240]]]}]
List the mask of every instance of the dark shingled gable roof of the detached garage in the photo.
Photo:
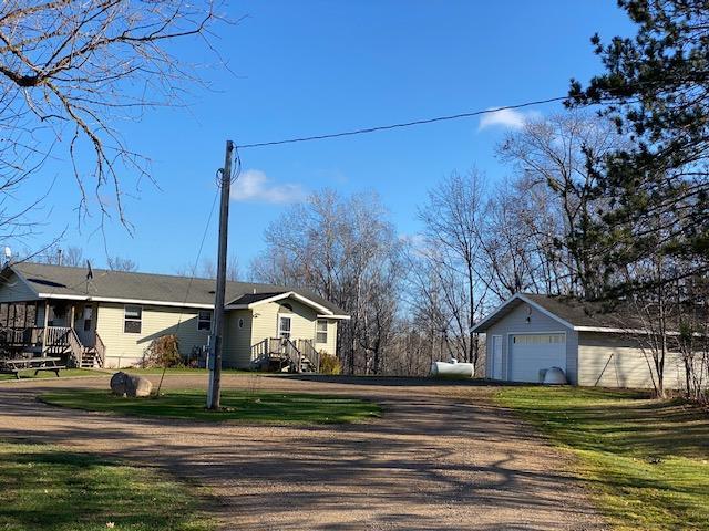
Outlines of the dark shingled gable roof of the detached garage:
[{"label": "dark shingled gable roof of the detached garage", "polygon": [[567,295],[516,293],[480,321],[474,332],[484,332],[501,321],[520,304],[530,304],[568,329],[576,331],[628,332],[644,327],[641,320],[619,306],[602,302],[583,301]]}]

